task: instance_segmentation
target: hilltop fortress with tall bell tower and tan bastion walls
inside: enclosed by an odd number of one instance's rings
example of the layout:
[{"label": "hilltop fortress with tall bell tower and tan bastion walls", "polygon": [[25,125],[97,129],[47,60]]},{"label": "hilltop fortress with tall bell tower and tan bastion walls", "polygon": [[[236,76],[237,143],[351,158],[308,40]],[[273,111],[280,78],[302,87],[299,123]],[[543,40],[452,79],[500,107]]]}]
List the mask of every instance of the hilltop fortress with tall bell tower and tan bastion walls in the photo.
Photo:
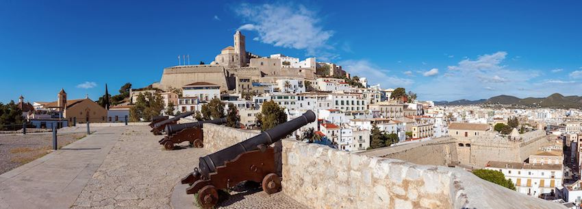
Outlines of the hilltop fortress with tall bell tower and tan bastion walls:
[{"label": "hilltop fortress with tall bell tower and tan bastion walls", "polygon": [[251,82],[272,81],[277,78],[314,79],[316,59],[299,61],[281,54],[262,58],[246,51],[245,38],[239,31],[233,36],[233,46],[225,47],[210,64],[179,65],[164,69],[162,79],[153,87],[162,90],[182,88],[195,82],[220,85],[220,90],[233,90],[239,77]]}]

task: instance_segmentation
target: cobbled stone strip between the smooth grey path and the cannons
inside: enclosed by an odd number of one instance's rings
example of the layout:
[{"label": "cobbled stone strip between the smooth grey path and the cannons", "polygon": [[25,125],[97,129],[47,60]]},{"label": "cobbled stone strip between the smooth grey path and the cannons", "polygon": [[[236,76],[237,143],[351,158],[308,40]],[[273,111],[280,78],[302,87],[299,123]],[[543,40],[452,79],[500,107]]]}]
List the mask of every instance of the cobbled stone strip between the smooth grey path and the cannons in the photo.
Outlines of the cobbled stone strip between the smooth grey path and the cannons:
[{"label": "cobbled stone strip between the smooth grey path and the cannons", "polygon": [[206,152],[190,147],[166,151],[157,143],[163,136],[149,130],[131,127],[121,136],[73,208],[170,208],[174,185]]}]

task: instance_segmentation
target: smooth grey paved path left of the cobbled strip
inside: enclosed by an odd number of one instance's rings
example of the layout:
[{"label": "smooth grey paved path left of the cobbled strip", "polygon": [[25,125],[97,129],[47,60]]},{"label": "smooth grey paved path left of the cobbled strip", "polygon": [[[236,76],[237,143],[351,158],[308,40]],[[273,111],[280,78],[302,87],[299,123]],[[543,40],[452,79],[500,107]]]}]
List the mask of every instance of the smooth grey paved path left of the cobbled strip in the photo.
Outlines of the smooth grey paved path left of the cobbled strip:
[{"label": "smooth grey paved path left of the cobbled strip", "polygon": [[0,208],[69,208],[126,127],[99,130],[0,175]]}]

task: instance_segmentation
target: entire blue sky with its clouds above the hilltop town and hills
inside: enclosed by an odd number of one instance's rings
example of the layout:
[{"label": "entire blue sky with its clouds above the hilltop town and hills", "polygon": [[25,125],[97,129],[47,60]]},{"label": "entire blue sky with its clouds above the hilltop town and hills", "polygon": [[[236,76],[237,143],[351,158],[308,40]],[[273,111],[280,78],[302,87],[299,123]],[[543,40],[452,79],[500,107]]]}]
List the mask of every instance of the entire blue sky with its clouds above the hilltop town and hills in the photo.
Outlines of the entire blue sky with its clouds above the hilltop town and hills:
[{"label": "entire blue sky with its clouds above the hilltop town and hills", "polygon": [[211,62],[241,29],[261,56],[316,56],[420,99],[581,95],[581,1],[0,0],[0,101],[71,99]]}]

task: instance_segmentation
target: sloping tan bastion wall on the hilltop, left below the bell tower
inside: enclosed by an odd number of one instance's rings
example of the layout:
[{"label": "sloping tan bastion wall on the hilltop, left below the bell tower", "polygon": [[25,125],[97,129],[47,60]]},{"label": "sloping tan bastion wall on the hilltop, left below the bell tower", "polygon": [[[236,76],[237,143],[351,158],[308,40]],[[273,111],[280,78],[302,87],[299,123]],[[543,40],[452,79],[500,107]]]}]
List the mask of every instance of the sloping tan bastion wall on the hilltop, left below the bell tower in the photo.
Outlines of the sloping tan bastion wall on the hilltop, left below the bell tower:
[{"label": "sloping tan bastion wall on the hilltop, left below the bell tower", "polygon": [[188,65],[173,66],[164,69],[160,88],[182,88],[194,82],[209,82],[220,85],[220,90],[228,90],[227,79],[223,66]]}]

